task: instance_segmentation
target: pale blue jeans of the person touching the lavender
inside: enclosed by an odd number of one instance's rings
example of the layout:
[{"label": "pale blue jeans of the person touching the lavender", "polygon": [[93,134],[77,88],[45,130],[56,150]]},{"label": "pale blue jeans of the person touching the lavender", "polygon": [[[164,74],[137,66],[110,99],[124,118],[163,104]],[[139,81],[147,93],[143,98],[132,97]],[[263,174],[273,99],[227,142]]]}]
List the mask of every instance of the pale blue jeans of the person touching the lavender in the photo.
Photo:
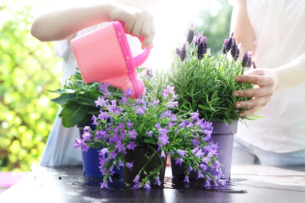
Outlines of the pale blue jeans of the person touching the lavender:
[{"label": "pale blue jeans of the person touching the lavender", "polygon": [[275,153],[254,147],[234,136],[232,165],[234,164],[305,165],[305,150],[291,153]]}]

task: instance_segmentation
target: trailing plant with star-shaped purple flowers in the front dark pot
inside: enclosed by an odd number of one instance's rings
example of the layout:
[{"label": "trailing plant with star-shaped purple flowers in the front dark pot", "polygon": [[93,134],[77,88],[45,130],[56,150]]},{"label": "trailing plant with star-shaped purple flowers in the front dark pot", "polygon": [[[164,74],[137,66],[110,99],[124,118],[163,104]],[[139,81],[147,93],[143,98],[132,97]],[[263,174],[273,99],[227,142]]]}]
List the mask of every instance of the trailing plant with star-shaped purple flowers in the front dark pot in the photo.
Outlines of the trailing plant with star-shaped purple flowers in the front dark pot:
[{"label": "trailing plant with star-shaped purple flowers in the front dark pot", "polygon": [[[126,96],[116,99],[108,92],[104,84],[103,95],[95,101],[100,107],[98,117],[93,116],[96,130],[86,126],[83,139],[75,139],[74,148],[81,147],[82,151],[89,148],[100,148],[100,170],[104,175],[101,188],[108,188],[112,182],[113,168],[125,166],[132,170],[137,160],[125,162],[122,156],[137,147],[147,146],[154,151],[152,156],[146,156],[147,162],[154,155],[166,157],[170,154],[176,164],[185,164],[185,180],[189,183],[189,174],[197,173],[198,179],[205,180],[205,186],[225,185],[222,180],[221,164],[217,160],[217,144],[210,140],[213,127],[212,123],[199,119],[199,113],[193,112],[184,116],[177,115],[171,110],[178,106],[175,101],[174,87],[167,86],[161,92],[149,91],[139,99],[131,99],[133,93],[126,91]],[[159,99],[162,97],[162,99]],[[152,184],[160,186],[160,169],[157,165],[153,171],[145,171],[145,167],[137,172],[133,188],[150,189]],[[209,171],[216,171],[212,176]],[[151,177],[156,180],[150,183]]]}]

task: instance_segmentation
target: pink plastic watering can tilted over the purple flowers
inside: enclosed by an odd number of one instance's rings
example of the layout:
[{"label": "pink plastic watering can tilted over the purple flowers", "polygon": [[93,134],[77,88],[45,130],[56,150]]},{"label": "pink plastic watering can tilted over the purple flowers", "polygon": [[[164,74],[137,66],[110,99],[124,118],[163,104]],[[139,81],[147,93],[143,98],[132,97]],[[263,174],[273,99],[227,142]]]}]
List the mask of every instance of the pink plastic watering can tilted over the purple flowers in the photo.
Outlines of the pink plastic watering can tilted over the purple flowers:
[{"label": "pink plastic watering can tilted over the purple flowers", "polygon": [[138,98],[145,92],[144,83],[138,78],[135,68],[147,59],[150,45],[142,54],[133,57],[122,23],[111,22],[75,38],[71,47],[85,84],[109,83],[125,94],[129,88],[133,90],[131,98]]}]

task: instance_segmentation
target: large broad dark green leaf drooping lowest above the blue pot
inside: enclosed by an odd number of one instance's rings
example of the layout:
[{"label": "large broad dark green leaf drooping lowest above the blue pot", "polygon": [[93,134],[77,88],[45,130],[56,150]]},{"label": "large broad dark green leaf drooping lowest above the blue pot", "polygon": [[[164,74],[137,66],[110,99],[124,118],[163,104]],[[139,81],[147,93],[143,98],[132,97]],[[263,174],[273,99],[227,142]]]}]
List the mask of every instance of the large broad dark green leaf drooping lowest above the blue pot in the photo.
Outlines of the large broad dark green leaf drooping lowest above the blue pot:
[{"label": "large broad dark green leaf drooping lowest above the blue pot", "polygon": [[87,113],[87,108],[77,102],[71,102],[65,106],[62,110],[63,114],[63,126],[70,128],[82,121]]}]

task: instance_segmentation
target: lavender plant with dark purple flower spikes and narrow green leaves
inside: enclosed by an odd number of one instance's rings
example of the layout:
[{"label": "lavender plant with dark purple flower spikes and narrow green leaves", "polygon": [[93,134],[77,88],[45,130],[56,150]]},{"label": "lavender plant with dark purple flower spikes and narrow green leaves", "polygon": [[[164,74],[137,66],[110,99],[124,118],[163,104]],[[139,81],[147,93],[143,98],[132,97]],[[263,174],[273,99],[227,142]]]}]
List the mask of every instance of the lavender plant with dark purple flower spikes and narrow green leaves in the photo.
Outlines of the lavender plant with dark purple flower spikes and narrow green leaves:
[{"label": "lavender plant with dark purple flower spikes and narrow green leaves", "polygon": [[[229,39],[224,41],[219,57],[211,56],[203,31],[194,36],[192,24],[187,43],[176,49],[177,60],[173,63],[170,73],[167,76],[158,76],[167,81],[163,85],[175,87],[179,105],[173,112],[185,114],[198,110],[200,117],[207,121],[227,123],[234,120],[256,119],[255,114],[248,117],[240,116],[238,113],[246,109],[234,106],[236,101],[252,98],[234,97],[233,91],[253,88],[252,84],[238,83],[234,78],[243,75],[252,66],[256,68],[251,52],[246,50],[242,60],[238,60],[239,54],[234,33],[231,33]],[[152,81],[152,88],[160,85]],[[147,83],[146,81],[146,85]]]}]

